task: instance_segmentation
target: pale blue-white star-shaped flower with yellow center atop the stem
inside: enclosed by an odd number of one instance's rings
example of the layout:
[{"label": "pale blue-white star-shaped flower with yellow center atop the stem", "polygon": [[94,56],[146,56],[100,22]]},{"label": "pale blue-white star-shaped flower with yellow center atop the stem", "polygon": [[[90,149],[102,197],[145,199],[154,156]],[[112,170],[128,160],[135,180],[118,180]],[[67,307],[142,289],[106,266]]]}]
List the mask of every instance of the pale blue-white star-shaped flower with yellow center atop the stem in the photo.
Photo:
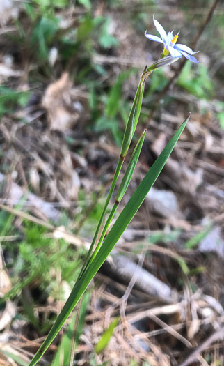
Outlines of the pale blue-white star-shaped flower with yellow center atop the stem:
[{"label": "pale blue-white star-shaped flower with yellow center atop the stem", "polygon": [[197,52],[193,52],[192,49],[186,45],[182,45],[181,43],[177,43],[178,34],[176,36],[173,36],[173,31],[166,33],[165,29],[157,20],[155,20],[153,15],[153,22],[154,26],[157,28],[157,31],[159,32],[161,38],[157,36],[153,36],[152,34],[147,34],[145,31],[145,37],[147,37],[150,40],[154,40],[154,42],[163,43],[164,49],[162,53],[162,57],[170,55],[172,57],[179,58],[179,57],[186,57],[186,59],[189,59],[192,62],[199,63],[195,57],[193,57],[193,54],[196,54]]}]

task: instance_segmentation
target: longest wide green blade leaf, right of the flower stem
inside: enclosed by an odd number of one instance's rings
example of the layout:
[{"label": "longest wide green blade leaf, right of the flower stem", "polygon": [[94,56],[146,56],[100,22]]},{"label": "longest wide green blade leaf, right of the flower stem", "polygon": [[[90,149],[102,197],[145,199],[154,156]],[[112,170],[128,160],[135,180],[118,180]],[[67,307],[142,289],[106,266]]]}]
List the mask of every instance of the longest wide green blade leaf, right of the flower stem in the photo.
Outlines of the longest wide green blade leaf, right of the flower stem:
[{"label": "longest wide green blade leaf, right of the flower stem", "polygon": [[102,266],[106,258],[109,256],[111,250],[118,242],[120,236],[122,236],[123,232],[129,225],[131,220],[134,218],[134,215],[138,211],[138,208],[140,208],[147,193],[150,191],[150,188],[152,188],[152,185],[154,184],[161,170],[163,169],[166,160],[168,160],[170,153],[173,151],[173,148],[175,147],[179,136],[182,134],[182,131],[184,130],[184,127],[186,126],[188,120],[189,117],[178,128],[177,132],[175,132],[175,135],[173,135],[166,147],[163,148],[163,151],[150,168],[150,171],[148,171],[145,175],[145,178],[143,178],[143,181],[141,181],[140,185],[138,185],[138,188],[129,199],[127,205],[120,213],[118,219],[115,221],[115,224],[113,225],[108,236],[106,236],[106,239],[102,247],[99,249],[99,252],[97,253],[94,261],[89,266],[87,266],[86,270],[84,270],[83,274],[79,278],[79,281],[74,285],[72,293],[67,299],[63,310],[61,310],[61,313],[58,315],[54,326],[52,326],[45,341],[40,346],[40,349],[38,349],[38,352],[33,357],[33,360],[31,360],[29,366],[34,366],[36,363],[38,363],[38,360],[40,360],[42,355],[48,349],[49,345],[63,326],[63,323],[65,323],[67,317],[69,317],[70,312],[72,312],[75,305],[77,305],[79,299],[83,295],[84,291],[86,291],[88,285],[90,284],[90,281],[97,273],[97,270],[99,270],[99,268]]}]

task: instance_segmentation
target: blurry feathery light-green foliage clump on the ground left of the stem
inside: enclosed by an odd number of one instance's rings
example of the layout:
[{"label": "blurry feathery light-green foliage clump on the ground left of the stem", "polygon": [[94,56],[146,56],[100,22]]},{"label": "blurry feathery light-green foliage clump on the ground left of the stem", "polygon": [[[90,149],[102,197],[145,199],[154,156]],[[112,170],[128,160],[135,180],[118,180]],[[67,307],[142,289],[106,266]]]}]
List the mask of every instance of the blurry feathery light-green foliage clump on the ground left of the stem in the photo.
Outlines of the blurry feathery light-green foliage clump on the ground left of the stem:
[{"label": "blurry feathery light-green foliage clump on the ground left of the stem", "polygon": [[[2,245],[4,247],[7,243]],[[13,254],[15,249],[16,255]],[[29,284],[34,277],[39,277],[41,289],[47,289],[54,298],[60,297],[55,270],[60,268],[62,280],[72,286],[79,270],[79,255],[63,239],[56,243],[54,239],[46,237],[46,229],[25,221],[24,240],[11,250],[17,291],[22,289],[26,279]]]}]

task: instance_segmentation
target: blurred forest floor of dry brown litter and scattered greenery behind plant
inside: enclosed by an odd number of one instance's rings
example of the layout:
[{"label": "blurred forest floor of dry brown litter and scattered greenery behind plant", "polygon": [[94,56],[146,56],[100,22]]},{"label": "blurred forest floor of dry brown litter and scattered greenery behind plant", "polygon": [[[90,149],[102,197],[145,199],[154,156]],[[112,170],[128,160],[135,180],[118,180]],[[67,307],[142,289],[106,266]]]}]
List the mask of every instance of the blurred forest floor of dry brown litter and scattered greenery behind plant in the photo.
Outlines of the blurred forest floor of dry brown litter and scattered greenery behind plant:
[{"label": "blurred forest floor of dry brown litter and scattered greenery behind plant", "polygon": [[0,13],[0,365],[29,364],[79,274],[138,80],[161,53],[144,36],[157,35],[153,13],[200,64],[182,57],[148,77],[119,212],[191,118],[38,365],[224,365],[221,1],[4,0]]}]

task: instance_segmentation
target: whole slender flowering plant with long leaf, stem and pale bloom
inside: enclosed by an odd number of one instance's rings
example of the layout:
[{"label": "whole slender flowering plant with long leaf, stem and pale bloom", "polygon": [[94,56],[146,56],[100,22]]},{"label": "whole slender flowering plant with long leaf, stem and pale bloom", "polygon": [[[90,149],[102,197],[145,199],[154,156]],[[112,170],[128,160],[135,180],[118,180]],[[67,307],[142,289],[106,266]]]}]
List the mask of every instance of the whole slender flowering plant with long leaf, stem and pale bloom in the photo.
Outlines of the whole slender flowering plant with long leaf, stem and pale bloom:
[{"label": "whole slender flowering plant with long leaf, stem and pale bloom", "polygon": [[157,160],[154,162],[152,167],[150,167],[150,170],[145,175],[145,178],[143,178],[143,181],[141,181],[141,183],[138,185],[138,188],[136,188],[136,191],[131,196],[125,208],[123,208],[122,212],[118,216],[118,219],[113,224],[113,227],[111,227],[109,234],[106,236],[106,232],[109,229],[109,224],[111,223],[113,215],[115,214],[115,211],[117,210],[123,195],[125,195],[127,187],[131,180],[131,176],[133,175],[134,169],[138,162],[138,157],[141,153],[141,148],[143,146],[146,133],[145,130],[143,131],[141,137],[138,139],[136,148],[134,148],[134,152],[131,155],[124,177],[122,178],[122,182],[120,183],[120,187],[118,188],[115,202],[111,209],[111,213],[109,213],[109,218],[104,223],[106,209],[108,208],[109,201],[111,200],[113,191],[115,189],[115,185],[118,182],[118,176],[120,174],[120,170],[122,168],[127,152],[129,151],[129,146],[131,144],[134,132],[136,130],[138,118],[141,113],[143,91],[147,77],[150,75],[150,73],[152,73],[152,71],[157,70],[158,68],[161,68],[163,66],[170,65],[171,63],[177,61],[182,56],[186,57],[186,59],[189,59],[194,63],[198,63],[195,57],[192,56],[196,52],[193,52],[192,49],[187,47],[186,45],[176,43],[178,35],[173,36],[173,31],[166,33],[166,31],[163,29],[163,26],[161,26],[161,24],[159,24],[159,22],[155,20],[154,17],[153,20],[154,25],[156,26],[157,31],[159,31],[161,38],[157,36],[152,36],[150,34],[147,34],[146,32],[145,36],[150,40],[162,43],[163,52],[161,53],[160,59],[154,62],[150,67],[146,66],[145,70],[143,71],[143,74],[141,75],[141,79],[136,91],[136,96],[134,98],[134,102],[131,107],[129,118],[127,121],[124,137],[122,140],[122,147],[120,150],[120,158],[118,160],[118,165],[115,169],[115,174],[113,176],[111,188],[106,198],[106,202],[104,204],[104,208],[102,210],[102,214],[99,219],[99,223],[97,225],[93,241],[90,245],[90,250],[86,255],[86,259],[81,268],[81,272],[79,273],[78,280],[74,284],[72,292],[70,293],[69,298],[67,299],[63,309],[61,310],[61,313],[58,315],[58,318],[56,319],[54,325],[49,331],[49,334],[47,335],[45,341],[40,346],[40,349],[38,349],[38,352],[31,360],[29,366],[34,366],[36,363],[38,363],[38,360],[40,360],[42,355],[48,349],[49,345],[54,340],[59,330],[62,328],[66,319],[69,317],[70,313],[79,302],[81,296],[86,291],[88,285],[90,284],[90,281],[97,273],[97,270],[99,270],[99,268],[102,266],[106,258],[109,256],[111,250],[118,242],[120,236],[122,236],[122,233],[125,231],[131,220],[134,218],[134,215],[138,211],[138,208],[140,208],[147,193],[150,191],[152,185],[159,176],[161,170],[163,169],[163,166],[166,163],[166,160],[168,160],[170,153],[173,151],[173,148],[175,147],[175,144],[177,143],[179,136],[182,134],[182,131],[184,130],[184,127],[186,126],[186,123],[189,120],[190,114],[186,118],[186,120],[182,123],[182,125],[180,125],[177,132],[175,132],[175,135],[173,135],[173,137],[170,139],[170,141],[163,149],[163,151],[161,152]]}]

